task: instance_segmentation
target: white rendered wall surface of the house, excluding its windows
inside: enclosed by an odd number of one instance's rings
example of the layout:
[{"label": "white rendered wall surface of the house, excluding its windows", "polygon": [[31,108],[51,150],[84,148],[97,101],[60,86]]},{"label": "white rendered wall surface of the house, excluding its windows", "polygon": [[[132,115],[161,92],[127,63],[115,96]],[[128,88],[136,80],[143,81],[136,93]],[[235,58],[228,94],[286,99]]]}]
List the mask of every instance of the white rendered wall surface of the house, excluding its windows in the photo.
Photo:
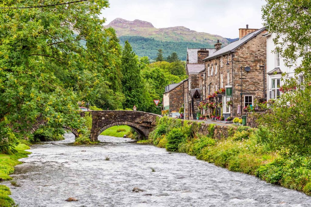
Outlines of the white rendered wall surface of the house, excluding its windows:
[{"label": "white rendered wall surface of the house, excluding its windows", "polygon": [[[282,81],[282,74],[275,74],[275,75],[268,75],[268,72],[272,71],[275,68],[280,68],[283,73],[287,73],[288,78],[295,77],[295,68],[301,65],[301,58],[299,58],[296,62],[293,62],[293,65],[287,67],[285,65],[284,59],[281,57],[280,54],[280,66],[276,64],[276,54],[273,52],[276,48],[276,45],[273,43],[273,39],[276,38],[275,33],[270,33],[265,35],[267,38],[267,101],[270,99],[270,92],[272,92],[272,79],[281,79],[281,85],[283,85],[284,81]],[[298,79],[298,77],[295,77]]]}]

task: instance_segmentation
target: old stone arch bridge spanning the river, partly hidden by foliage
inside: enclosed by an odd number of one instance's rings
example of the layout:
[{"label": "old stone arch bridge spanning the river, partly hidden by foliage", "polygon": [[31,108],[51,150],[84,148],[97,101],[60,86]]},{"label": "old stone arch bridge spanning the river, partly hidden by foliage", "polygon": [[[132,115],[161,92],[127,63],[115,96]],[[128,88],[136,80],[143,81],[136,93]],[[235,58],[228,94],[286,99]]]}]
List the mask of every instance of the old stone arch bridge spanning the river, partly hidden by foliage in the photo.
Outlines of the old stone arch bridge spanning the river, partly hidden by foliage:
[{"label": "old stone arch bridge spanning the river, partly hidden by foliage", "polygon": [[[146,113],[142,111],[90,111],[92,114],[92,129],[91,140],[97,141],[98,135],[104,130],[116,126],[116,125],[128,125],[132,127],[140,138],[148,137],[149,133],[153,131],[156,126],[156,118],[160,117],[157,114]],[[81,112],[81,116],[84,116],[85,112]],[[36,124],[31,130],[34,133],[38,128],[45,125],[44,122]],[[63,126],[70,130],[75,137],[79,136],[76,129]]]}]

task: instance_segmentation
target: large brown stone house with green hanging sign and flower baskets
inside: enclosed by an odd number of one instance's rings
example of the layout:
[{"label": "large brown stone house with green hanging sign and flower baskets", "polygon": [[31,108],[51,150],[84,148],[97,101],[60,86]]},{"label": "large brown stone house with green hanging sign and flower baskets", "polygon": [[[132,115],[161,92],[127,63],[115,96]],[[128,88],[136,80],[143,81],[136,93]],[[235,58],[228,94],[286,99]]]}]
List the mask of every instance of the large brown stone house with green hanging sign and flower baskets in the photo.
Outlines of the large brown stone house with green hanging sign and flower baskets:
[{"label": "large brown stone house with green hanging sign and flower baskets", "polygon": [[[265,99],[265,67],[267,61],[266,28],[239,29],[239,40],[221,48],[204,58],[205,70],[199,77],[199,88],[203,90],[202,100],[222,102],[222,107],[203,111],[206,115],[220,115],[225,118],[245,115],[243,108],[254,105],[255,100]],[[210,98],[215,91],[224,88],[226,93]],[[214,94],[215,96],[215,94]],[[232,101],[232,104],[227,104]],[[242,114],[238,114],[240,105]]]}]

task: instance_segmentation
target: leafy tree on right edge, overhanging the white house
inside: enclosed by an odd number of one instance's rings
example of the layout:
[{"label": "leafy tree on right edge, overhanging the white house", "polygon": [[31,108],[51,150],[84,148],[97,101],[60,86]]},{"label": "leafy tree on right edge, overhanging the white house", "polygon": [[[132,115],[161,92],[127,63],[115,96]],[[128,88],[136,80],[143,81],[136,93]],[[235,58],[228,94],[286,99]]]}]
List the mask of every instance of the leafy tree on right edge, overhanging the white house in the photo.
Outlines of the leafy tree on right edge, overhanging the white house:
[{"label": "leafy tree on right edge, overhanging the white house", "polygon": [[[262,7],[263,19],[276,51],[289,65],[292,60],[302,60],[295,69],[295,78],[283,74],[285,84],[282,95],[272,104],[272,112],[263,117],[263,123],[275,133],[272,141],[281,148],[283,155],[300,160],[311,155],[311,2],[306,0],[267,0]],[[298,80],[303,76],[304,81]]]}]

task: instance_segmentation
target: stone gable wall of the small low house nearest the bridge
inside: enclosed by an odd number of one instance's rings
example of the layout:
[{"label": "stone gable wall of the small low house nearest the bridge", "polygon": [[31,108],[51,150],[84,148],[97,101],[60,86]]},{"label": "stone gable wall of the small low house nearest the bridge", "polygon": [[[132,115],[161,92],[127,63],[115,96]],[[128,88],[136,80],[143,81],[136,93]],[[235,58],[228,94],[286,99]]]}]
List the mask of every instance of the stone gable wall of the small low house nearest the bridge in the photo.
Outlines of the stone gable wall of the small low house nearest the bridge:
[{"label": "stone gable wall of the small low house nearest the bridge", "polygon": [[184,96],[183,83],[169,92],[169,113],[175,111],[179,112],[179,109],[183,106]]}]

